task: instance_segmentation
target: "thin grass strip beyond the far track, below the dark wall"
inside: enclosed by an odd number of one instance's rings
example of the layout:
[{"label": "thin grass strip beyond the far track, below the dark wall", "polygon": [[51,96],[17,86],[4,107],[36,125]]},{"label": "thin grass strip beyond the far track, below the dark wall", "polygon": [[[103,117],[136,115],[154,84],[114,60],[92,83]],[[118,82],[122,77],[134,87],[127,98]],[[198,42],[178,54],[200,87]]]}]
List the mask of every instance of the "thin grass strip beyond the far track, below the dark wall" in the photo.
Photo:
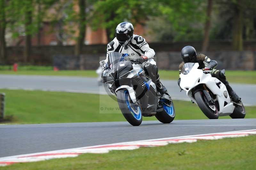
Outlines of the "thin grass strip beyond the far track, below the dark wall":
[{"label": "thin grass strip beyond the far track, below the dark wall", "polygon": [[[14,74],[14,75],[54,75],[54,76],[82,76],[82,77],[97,77],[95,70],[61,70],[53,71],[48,70],[45,67],[44,70],[39,70],[39,68],[34,68],[34,70],[20,69],[17,72],[10,70],[0,70],[0,74]],[[36,70],[37,69],[37,70]],[[173,70],[160,70],[159,75],[161,79],[166,80],[178,80],[179,71]],[[229,82],[232,83],[246,83],[246,84],[256,84],[256,71],[226,71],[226,76]]]}]

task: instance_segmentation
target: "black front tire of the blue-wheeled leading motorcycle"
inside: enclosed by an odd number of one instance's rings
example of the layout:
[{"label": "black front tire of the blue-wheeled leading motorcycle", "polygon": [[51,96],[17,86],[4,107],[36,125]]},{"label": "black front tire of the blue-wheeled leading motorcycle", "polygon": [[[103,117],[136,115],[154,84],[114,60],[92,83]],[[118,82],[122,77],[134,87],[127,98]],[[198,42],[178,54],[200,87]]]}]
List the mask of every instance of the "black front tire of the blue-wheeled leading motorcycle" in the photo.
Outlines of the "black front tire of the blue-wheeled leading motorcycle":
[{"label": "black front tire of the blue-wheeled leading motorcycle", "polygon": [[[117,102],[119,107],[121,108],[121,112],[124,115],[124,118],[132,125],[132,126],[139,126],[142,122],[142,115],[141,119],[137,120],[133,117],[131,111],[129,111],[127,104],[124,102],[125,101],[125,96],[124,96],[124,91],[123,89],[120,89],[117,91]],[[123,108],[123,109],[122,109]]]}]

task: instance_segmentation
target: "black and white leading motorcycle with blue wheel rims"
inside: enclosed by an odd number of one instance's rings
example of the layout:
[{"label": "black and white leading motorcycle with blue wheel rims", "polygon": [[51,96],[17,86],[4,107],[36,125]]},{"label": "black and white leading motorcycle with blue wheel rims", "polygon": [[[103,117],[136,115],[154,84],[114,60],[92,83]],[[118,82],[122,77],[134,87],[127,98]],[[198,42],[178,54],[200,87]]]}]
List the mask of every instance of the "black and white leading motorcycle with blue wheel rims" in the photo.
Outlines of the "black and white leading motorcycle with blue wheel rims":
[{"label": "black and white leading motorcycle with blue wheel rims", "polygon": [[156,116],[162,123],[171,123],[175,109],[170,95],[160,95],[142,67],[128,54],[110,52],[102,73],[103,82],[109,84],[124,118],[131,125],[139,126],[142,116]]}]

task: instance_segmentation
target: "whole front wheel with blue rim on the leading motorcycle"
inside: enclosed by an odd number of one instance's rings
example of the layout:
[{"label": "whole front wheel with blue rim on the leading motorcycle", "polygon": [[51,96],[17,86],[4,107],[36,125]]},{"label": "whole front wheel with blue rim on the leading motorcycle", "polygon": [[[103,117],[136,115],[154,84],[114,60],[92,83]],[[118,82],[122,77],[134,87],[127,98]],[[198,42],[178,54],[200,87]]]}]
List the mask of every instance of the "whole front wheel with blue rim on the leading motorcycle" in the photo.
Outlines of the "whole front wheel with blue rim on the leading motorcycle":
[{"label": "whole front wheel with blue rim on the leading motorcycle", "polygon": [[117,102],[124,118],[132,126],[139,126],[142,122],[141,109],[138,104],[132,102],[128,90],[117,91]]}]

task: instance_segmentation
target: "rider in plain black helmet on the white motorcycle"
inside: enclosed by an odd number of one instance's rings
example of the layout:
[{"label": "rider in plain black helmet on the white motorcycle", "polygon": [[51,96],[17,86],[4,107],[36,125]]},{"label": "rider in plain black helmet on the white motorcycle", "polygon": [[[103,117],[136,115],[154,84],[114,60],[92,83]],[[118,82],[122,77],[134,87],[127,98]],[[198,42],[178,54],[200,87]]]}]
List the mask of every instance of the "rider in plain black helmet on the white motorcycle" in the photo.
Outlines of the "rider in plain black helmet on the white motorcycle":
[{"label": "rider in plain black helmet on the white motorcycle", "polygon": [[[196,54],[196,50],[192,46],[185,46],[181,50],[181,58],[183,62],[180,63],[179,65],[179,71],[181,73],[182,66],[185,63],[199,63],[199,69],[204,69],[204,70],[211,70],[212,77],[216,77],[219,79],[222,83],[224,83],[227,87],[228,94],[231,97],[231,100],[238,103],[241,101],[241,98],[237,96],[236,92],[230,87],[225,73],[223,73],[220,70],[214,69],[214,67],[217,66],[217,61],[211,60],[204,54]],[[178,80],[178,84],[180,86],[180,79]]]}]

